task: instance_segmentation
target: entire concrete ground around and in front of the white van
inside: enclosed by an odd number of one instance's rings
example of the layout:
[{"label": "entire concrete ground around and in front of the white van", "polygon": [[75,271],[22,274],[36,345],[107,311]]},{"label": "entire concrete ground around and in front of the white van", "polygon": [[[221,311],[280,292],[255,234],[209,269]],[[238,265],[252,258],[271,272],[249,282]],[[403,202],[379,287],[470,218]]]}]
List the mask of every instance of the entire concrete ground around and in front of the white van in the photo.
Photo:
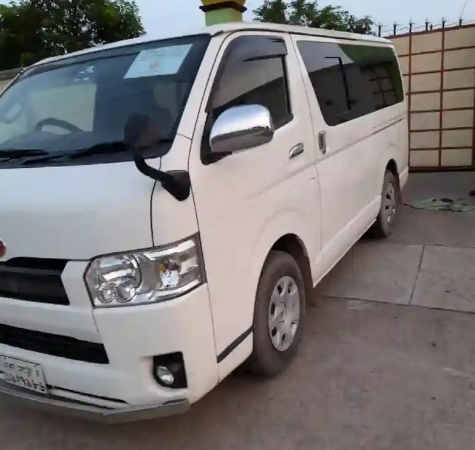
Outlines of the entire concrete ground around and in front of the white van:
[{"label": "entire concrete ground around and in front of the white van", "polygon": [[[418,174],[406,200],[466,196],[475,174]],[[405,208],[315,291],[301,352],[272,381],[230,376],[188,414],[105,426],[0,404],[2,448],[475,448],[475,213]]]}]

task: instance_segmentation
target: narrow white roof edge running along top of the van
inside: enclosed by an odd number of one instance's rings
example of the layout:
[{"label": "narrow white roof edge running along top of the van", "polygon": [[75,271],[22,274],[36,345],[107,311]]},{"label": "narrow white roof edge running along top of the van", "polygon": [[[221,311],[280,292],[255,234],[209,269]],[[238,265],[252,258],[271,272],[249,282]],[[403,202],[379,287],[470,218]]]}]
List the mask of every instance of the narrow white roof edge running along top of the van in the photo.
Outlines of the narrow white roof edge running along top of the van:
[{"label": "narrow white roof edge running along top of the van", "polygon": [[113,42],[111,44],[105,45],[98,45],[96,47],[88,48],[85,50],[80,50],[74,53],[68,53],[66,55],[55,56],[52,58],[47,58],[42,61],[37,62],[34,66],[46,64],[54,61],[59,61],[66,58],[71,58],[78,55],[85,55],[88,53],[95,53],[102,50],[109,50],[113,48],[120,48],[120,47],[128,47],[131,45],[137,44],[145,44],[148,42],[154,42],[162,39],[171,39],[171,38],[179,38],[185,36],[197,36],[208,34],[211,36],[216,36],[222,33],[232,33],[236,31],[274,31],[280,33],[294,33],[294,34],[303,34],[309,36],[320,36],[326,38],[334,38],[334,39],[347,39],[353,41],[362,41],[362,42],[375,42],[375,43],[383,43],[383,44],[390,44],[391,41],[383,38],[378,38],[375,36],[367,36],[362,34],[355,34],[355,33],[345,33],[342,31],[332,31],[332,30],[324,30],[320,28],[310,28],[310,27],[300,27],[300,26],[293,26],[293,25],[280,25],[275,23],[262,23],[262,22],[233,22],[233,23],[225,23],[220,25],[213,25],[206,28],[199,28],[197,30],[188,32],[186,34],[174,34],[174,35],[146,35],[140,38],[135,39],[127,39],[123,41]]}]

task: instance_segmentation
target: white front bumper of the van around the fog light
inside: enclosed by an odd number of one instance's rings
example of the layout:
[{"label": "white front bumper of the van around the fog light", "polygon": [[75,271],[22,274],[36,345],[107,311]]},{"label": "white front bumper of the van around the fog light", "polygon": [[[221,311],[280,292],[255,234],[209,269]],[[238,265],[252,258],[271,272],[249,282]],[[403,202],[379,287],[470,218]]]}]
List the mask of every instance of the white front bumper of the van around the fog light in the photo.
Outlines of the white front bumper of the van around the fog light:
[{"label": "white front bumper of the van around the fog light", "polygon": [[[71,279],[81,279],[73,275]],[[50,404],[53,399],[53,405],[57,406],[56,400],[60,400],[61,406],[72,405],[73,410],[80,411],[84,408],[78,408],[78,404],[91,405],[93,412],[100,411],[106,416],[145,409],[153,410],[147,414],[158,417],[162,415],[160,411],[169,414],[170,408],[172,411],[178,406],[180,410],[184,408],[183,399],[185,404],[196,402],[216,386],[218,364],[206,285],[169,302],[92,310],[85,288],[76,284],[77,288],[73,289],[66,283],[71,307],[11,299],[0,302],[0,323],[5,320],[27,330],[59,335],[70,329],[73,337],[103,344],[106,349],[109,363],[94,364],[0,343],[0,355],[41,365],[51,397],[40,396],[39,403]],[[96,334],[90,322],[97,327]],[[188,380],[185,389],[160,386],[153,376],[153,358],[175,352],[183,355]],[[1,392],[3,386],[0,372]],[[32,395],[21,393],[27,398]]]}]

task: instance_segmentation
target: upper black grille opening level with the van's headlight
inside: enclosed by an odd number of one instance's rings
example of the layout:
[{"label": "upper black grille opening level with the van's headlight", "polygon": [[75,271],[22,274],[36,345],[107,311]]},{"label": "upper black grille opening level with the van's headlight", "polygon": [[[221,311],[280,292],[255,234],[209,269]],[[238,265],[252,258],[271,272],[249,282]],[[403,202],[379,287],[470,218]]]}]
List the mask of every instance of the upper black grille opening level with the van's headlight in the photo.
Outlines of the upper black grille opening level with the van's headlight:
[{"label": "upper black grille opening level with the van's headlight", "polygon": [[0,263],[0,297],[69,305],[61,281],[66,260],[14,258]]}]

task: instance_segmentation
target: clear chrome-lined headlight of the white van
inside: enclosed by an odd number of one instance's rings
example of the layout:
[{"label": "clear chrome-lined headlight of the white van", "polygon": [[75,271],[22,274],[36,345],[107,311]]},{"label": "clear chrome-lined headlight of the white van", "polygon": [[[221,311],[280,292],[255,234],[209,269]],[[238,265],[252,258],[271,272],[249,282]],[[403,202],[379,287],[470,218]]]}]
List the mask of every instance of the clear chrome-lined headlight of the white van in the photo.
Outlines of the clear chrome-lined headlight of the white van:
[{"label": "clear chrome-lined headlight of the white van", "polygon": [[201,252],[192,238],[169,247],[94,259],[86,271],[97,307],[161,302],[203,282]]}]

